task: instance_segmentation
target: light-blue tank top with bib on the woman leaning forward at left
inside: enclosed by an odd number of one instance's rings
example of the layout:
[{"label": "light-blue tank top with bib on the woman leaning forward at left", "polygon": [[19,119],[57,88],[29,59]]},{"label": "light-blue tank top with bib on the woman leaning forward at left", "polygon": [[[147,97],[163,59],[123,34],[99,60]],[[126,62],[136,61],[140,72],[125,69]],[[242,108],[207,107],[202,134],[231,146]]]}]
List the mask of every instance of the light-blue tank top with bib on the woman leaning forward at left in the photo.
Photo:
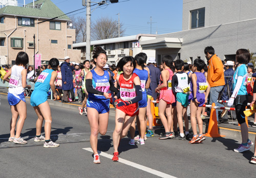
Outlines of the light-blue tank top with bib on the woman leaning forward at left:
[{"label": "light-blue tank top with bib on the woman leaning forward at left", "polygon": [[50,80],[52,77],[52,69],[45,69],[40,73],[35,83],[35,90],[48,92],[50,90]]}]

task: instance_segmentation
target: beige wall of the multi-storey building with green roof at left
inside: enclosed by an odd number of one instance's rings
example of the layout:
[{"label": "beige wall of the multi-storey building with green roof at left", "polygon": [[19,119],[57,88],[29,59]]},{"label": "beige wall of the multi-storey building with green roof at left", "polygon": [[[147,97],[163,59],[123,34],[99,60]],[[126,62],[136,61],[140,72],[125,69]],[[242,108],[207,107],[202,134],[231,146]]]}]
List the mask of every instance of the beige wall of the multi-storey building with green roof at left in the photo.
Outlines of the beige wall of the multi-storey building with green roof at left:
[{"label": "beige wall of the multi-storey building with green roof at left", "polygon": [[[15,20],[14,16],[5,16],[6,30],[15,29],[15,24],[17,24],[17,19]],[[68,49],[68,44],[72,45],[73,41],[75,41],[75,31],[71,29],[67,29],[66,21],[61,22],[61,30],[50,30],[50,22],[42,22],[37,24],[38,22],[44,21],[45,19],[36,19],[35,27],[23,27],[18,26],[17,29],[11,34],[12,30],[7,31],[6,34],[9,35],[8,38],[8,58],[9,64],[11,64],[12,60],[15,60],[17,53],[20,51],[24,51],[29,56],[29,65],[33,65],[33,55],[34,48],[29,47],[29,42],[33,42],[33,36],[35,34],[35,53],[41,54],[42,61],[49,61],[51,58],[57,58],[60,61],[63,61],[65,56],[70,56],[72,61],[80,62],[80,50]],[[2,36],[2,34],[0,34]],[[23,47],[11,47],[11,38],[19,37],[24,39]],[[57,44],[51,43],[51,40],[57,40]],[[7,40],[6,40],[7,41]],[[5,45],[7,42],[5,41]],[[7,50],[7,48],[6,48]],[[0,51],[0,56],[2,55],[3,50]]]}]

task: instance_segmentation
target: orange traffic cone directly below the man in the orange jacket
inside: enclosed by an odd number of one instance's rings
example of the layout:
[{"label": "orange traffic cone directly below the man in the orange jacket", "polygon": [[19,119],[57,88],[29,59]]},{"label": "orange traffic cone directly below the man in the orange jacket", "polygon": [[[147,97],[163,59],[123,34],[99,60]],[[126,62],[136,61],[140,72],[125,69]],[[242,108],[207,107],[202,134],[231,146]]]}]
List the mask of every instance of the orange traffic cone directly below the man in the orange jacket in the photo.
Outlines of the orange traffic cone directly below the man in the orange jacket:
[{"label": "orange traffic cone directly below the man in the orange jacket", "polygon": [[225,137],[225,135],[220,135],[218,130],[218,122],[216,117],[216,109],[215,103],[212,103],[211,105],[211,112],[210,112],[210,120],[208,125],[208,132],[204,134],[206,137]]}]

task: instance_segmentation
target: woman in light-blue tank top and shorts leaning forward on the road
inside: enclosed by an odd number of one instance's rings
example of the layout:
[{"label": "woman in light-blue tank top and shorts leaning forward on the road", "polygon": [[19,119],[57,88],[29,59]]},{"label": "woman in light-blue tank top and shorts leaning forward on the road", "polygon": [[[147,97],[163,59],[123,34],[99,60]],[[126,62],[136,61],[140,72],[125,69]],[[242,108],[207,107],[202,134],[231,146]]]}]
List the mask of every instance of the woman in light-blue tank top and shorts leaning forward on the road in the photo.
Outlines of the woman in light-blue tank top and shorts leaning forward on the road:
[{"label": "woman in light-blue tank top and shorts leaning forward on the road", "polygon": [[[35,90],[31,94],[30,105],[33,106],[35,113],[38,116],[36,121],[36,136],[35,142],[45,141],[44,147],[58,147],[59,144],[54,143],[50,139],[51,128],[52,128],[52,115],[49,103],[47,101],[48,91],[51,88],[54,96],[54,100],[57,99],[57,93],[55,90],[54,81],[57,77],[57,68],[59,61],[56,58],[52,58],[49,61],[49,69],[46,69],[40,73],[40,75],[34,80]],[[45,119],[45,135],[41,135],[42,121]]]}]

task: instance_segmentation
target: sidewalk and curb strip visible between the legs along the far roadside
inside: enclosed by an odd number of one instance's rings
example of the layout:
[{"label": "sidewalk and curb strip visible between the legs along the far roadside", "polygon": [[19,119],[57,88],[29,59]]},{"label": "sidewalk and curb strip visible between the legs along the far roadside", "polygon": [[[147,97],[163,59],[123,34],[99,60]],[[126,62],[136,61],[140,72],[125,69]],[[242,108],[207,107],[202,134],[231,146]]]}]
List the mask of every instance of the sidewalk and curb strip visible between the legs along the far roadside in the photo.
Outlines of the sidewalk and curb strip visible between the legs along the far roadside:
[{"label": "sidewalk and curb strip visible between the legs along the far roadside", "polygon": [[[8,89],[5,87],[0,87],[0,96],[1,98],[7,98],[7,92]],[[0,99],[1,99],[0,98]],[[30,102],[30,97],[26,97],[26,101]],[[56,107],[62,107],[62,108],[67,108],[67,109],[72,109],[72,110],[77,110],[77,115],[79,115],[79,110],[78,107],[81,106],[78,101],[74,101],[71,103],[61,103],[61,100],[51,100],[48,99],[49,105],[50,106],[56,106]],[[1,106],[0,106],[1,107]],[[115,108],[110,109],[110,117],[115,117]],[[208,120],[209,117],[206,117],[206,119],[203,120],[203,132],[207,133],[207,128],[208,128]],[[248,117],[248,131],[249,131],[249,139],[254,141],[255,135],[256,135],[256,125],[253,123],[254,118]],[[232,120],[228,119],[229,124],[227,123],[220,123],[219,126],[219,134],[225,135],[227,137],[232,137],[236,139],[241,139],[241,132],[240,132],[240,126],[238,126],[237,120]],[[155,130],[160,130],[160,126],[155,126],[153,127]],[[189,130],[192,131],[190,122],[189,122]],[[157,134],[155,134],[157,136]]]}]

